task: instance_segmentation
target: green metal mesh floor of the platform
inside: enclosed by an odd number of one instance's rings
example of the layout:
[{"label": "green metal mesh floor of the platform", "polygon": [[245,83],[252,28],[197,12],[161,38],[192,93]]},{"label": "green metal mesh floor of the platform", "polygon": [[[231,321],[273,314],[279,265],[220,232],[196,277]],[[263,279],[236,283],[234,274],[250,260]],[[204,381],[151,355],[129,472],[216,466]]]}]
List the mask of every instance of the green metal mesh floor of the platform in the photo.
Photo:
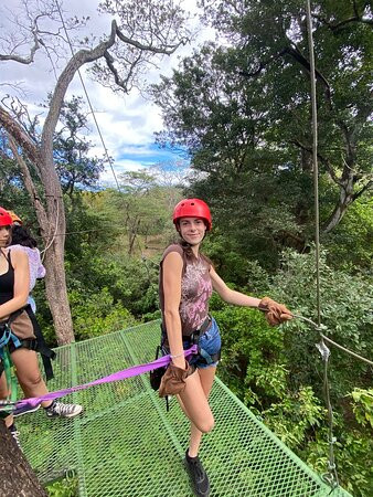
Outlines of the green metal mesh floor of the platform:
[{"label": "green metal mesh floor of the platform", "polygon": [[[56,350],[51,390],[85,383],[153,360],[159,324],[150,322]],[[74,420],[42,410],[19,419],[21,443],[43,483],[75,475],[81,496],[191,496],[183,455],[189,423],[175,400],[164,401],[148,377],[94,387],[65,398],[84,405]],[[330,488],[216,379],[211,404],[216,424],[201,458],[212,497],[327,496]],[[342,489],[333,493],[349,495]]]}]

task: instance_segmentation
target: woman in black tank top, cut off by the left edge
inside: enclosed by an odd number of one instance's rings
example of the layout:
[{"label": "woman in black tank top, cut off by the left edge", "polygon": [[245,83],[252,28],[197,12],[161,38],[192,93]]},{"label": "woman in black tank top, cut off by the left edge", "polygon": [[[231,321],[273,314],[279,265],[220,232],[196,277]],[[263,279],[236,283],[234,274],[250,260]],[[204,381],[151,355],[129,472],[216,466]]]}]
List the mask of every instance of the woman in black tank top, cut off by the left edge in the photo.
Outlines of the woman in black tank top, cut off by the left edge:
[{"label": "woman in black tank top, cut off by the left edge", "polygon": [[[29,258],[23,251],[9,247],[11,223],[9,213],[0,208],[0,340],[6,336],[10,337],[7,347],[25,396],[39,396],[47,393],[47,389],[41,377],[35,352],[40,346],[38,322],[26,304],[30,288]],[[9,393],[6,374],[2,370],[0,374],[0,399],[6,399]],[[83,410],[82,405],[56,401],[42,402],[42,406],[49,417],[73,417]],[[6,424],[19,444],[19,433],[12,415],[6,419]]]}]

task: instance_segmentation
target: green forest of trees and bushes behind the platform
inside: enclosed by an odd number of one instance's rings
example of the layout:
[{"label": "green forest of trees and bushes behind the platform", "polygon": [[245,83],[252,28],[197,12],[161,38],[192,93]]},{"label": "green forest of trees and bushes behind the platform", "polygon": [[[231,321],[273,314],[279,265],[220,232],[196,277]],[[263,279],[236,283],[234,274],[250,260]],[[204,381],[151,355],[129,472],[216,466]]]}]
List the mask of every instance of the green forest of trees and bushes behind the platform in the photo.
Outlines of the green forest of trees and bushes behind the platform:
[{"label": "green forest of trees and bushes behind the platform", "polygon": [[[213,231],[204,252],[231,287],[269,295],[316,320],[303,2],[201,3],[205,22],[225,43],[195,50],[151,89],[164,113],[158,142],[189,154],[188,180],[171,182],[170,168],[153,167],[119,177],[120,191],[99,189],[103,160],[92,158],[92,144],[82,139],[87,124],[82,101],[63,102],[53,159],[66,226],[56,237],[65,239],[77,340],[159,317],[158,264],[174,240],[172,208],[184,195],[211,205]],[[372,12],[363,1],[317,2],[313,11],[321,320],[330,338],[371,359]],[[35,121],[28,129],[36,128]],[[0,165],[0,204],[21,215],[45,247],[6,133]],[[43,201],[42,178],[31,163],[30,170]],[[43,282],[34,296],[46,338],[56,345]],[[326,473],[328,416],[317,332],[296,319],[269,328],[258,311],[233,308],[216,296],[211,310],[223,338],[219,376],[287,446],[319,474]],[[333,348],[329,374],[341,484],[353,495],[372,495],[372,368]]]}]

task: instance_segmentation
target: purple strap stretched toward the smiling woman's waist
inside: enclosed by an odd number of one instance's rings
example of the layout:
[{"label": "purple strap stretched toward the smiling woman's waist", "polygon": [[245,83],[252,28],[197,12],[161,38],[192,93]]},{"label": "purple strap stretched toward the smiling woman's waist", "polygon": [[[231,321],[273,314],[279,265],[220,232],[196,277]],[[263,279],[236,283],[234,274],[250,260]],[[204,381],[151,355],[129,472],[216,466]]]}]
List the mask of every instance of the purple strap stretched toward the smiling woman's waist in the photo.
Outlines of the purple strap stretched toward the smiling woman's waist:
[{"label": "purple strap stretched toward the smiling woman's waist", "polygon": [[[198,352],[198,346],[193,345],[190,349],[184,350],[184,356],[189,358],[193,353]],[[127,378],[137,377],[138,374],[143,374],[146,372],[152,371],[158,368],[168,366],[171,362],[170,356],[163,356],[152,362],[146,364],[134,366],[132,368],[124,369],[116,373],[109,374],[108,377],[99,378],[98,380],[90,381],[89,383],[78,384],[77,387],[71,387],[70,389],[57,390],[56,392],[50,392],[41,396],[32,396],[29,399],[22,399],[15,403],[14,414],[20,414],[23,411],[28,411],[30,408],[36,408],[41,402],[60,399],[61,396],[67,395],[72,392],[77,392],[79,390],[88,389],[95,384],[111,383],[114,381],[126,380]]]}]

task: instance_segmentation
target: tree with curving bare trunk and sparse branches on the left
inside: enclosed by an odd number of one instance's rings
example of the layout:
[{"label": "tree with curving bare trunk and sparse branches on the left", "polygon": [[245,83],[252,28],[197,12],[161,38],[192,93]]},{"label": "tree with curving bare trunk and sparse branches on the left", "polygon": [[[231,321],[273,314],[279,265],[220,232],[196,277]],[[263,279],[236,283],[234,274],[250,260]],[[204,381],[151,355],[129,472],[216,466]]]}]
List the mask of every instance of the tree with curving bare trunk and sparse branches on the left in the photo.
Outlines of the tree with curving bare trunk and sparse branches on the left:
[{"label": "tree with curving bare trunk and sparse branches on the left", "polygon": [[[45,2],[41,6],[42,10],[33,11],[28,2],[23,2],[28,21],[18,21],[18,32],[2,39],[0,61],[28,65],[34,62],[38,51],[60,59],[58,43],[63,40],[60,4]],[[115,18],[110,32],[99,42],[87,38],[81,41],[84,47],[68,60],[57,77],[38,141],[24,129],[20,115],[0,106],[0,125],[8,134],[9,155],[17,160],[22,172],[45,243],[46,295],[60,343],[74,339],[64,273],[65,239],[62,234],[66,231],[65,212],[53,150],[53,138],[68,85],[81,67],[92,64],[92,74],[102,84],[128,93],[139,84],[154,57],[173,53],[189,35],[184,29],[185,17],[171,0],[141,3],[107,0],[99,4],[99,10]],[[42,25],[45,21],[52,23],[56,34],[53,34],[53,29]],[[67,29],[76,25],[79,21],[74,19]],[[29,54],[24,55],[21,51],[26,44]],[[41,180],[42,194],[32,180],[32,168]],[[55,233],[60,235],[54,236]]]}]

